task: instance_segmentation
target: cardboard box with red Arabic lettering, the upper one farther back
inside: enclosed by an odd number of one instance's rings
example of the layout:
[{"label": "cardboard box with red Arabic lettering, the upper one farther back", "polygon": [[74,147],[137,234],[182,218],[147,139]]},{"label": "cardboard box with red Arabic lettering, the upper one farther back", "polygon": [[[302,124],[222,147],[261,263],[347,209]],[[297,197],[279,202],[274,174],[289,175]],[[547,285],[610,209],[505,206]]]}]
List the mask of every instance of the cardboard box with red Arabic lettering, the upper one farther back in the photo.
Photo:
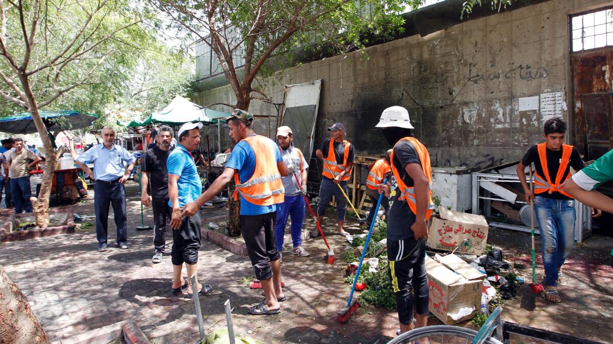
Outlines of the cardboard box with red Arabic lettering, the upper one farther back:
[{"label": "cardboard box with red Arabic lettering, the upper one farther back", "polygon": [[428,247],[437,250],[481,255],[487,244],[489,226],[485,217],[438,208],[428,230]]}]

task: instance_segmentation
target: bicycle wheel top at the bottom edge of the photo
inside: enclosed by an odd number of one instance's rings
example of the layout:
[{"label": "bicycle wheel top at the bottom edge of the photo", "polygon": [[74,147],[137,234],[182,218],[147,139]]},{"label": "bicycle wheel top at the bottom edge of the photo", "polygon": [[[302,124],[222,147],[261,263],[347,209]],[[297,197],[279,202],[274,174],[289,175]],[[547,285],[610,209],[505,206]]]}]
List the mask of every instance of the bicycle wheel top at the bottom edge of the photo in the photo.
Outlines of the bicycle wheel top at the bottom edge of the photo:
[{"label": "bicycle wheel top at the bottom edge of the photo", "polygon": [[[428,339],[430,344],[470,344],[477,331],[465,327],[434,325],[418,327],[390,340],[387,344],[422,344],[420,339]],[[425,342],[425,341],[424,341]],[[496,338],[487,337],[484,344],[502,344]]]}]

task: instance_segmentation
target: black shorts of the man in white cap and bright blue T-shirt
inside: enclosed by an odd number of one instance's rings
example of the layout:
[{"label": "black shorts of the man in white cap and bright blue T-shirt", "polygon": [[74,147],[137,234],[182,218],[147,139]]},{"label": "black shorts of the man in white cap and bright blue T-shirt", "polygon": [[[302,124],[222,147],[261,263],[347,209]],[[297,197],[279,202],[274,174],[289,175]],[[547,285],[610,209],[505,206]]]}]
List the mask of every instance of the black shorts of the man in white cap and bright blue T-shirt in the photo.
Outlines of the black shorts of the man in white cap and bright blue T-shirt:
[{"label": "black shorts of the man in white cap and bright blue T-shirt", "polygon": [[[169,211],[172,214],[172,208]],[[173,265],[198,263],[201,221],[200,212],[196,212],[192,216],[183,217],[181,226],[177,230],[172,230],[171,260]]]}]

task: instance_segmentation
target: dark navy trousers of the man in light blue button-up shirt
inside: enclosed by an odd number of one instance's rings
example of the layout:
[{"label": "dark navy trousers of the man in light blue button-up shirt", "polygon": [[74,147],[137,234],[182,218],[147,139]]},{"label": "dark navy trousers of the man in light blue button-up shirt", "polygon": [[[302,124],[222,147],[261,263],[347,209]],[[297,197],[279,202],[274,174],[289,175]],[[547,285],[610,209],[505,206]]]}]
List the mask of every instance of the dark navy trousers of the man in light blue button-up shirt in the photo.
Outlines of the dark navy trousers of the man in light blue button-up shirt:
[{"label": "dark navy trousers of the man in light blue button-up shirt", "polygon": [[96,209],[96,239],[98,247],[107,244],[109,225],[109,203],[113,204],[117,244],[128,241],[128,219],[126,217],[126,190],[118,182],[96,181],[94,184],[94,208]]}]

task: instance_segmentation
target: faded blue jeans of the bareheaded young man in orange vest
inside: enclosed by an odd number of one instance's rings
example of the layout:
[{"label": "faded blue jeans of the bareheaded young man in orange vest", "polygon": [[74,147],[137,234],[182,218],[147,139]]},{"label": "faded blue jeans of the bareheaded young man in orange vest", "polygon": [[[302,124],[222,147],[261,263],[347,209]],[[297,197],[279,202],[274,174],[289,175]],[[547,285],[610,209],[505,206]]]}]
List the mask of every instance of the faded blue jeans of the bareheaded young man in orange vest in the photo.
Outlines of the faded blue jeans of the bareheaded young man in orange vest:
[{"label": "faded blue jeans of the bareheaded young man in orange vest", "polygon": [[535,217],[541,232],[545,284],[557,286],[558,269],[574,244],[574,200],[535,197]]}]

